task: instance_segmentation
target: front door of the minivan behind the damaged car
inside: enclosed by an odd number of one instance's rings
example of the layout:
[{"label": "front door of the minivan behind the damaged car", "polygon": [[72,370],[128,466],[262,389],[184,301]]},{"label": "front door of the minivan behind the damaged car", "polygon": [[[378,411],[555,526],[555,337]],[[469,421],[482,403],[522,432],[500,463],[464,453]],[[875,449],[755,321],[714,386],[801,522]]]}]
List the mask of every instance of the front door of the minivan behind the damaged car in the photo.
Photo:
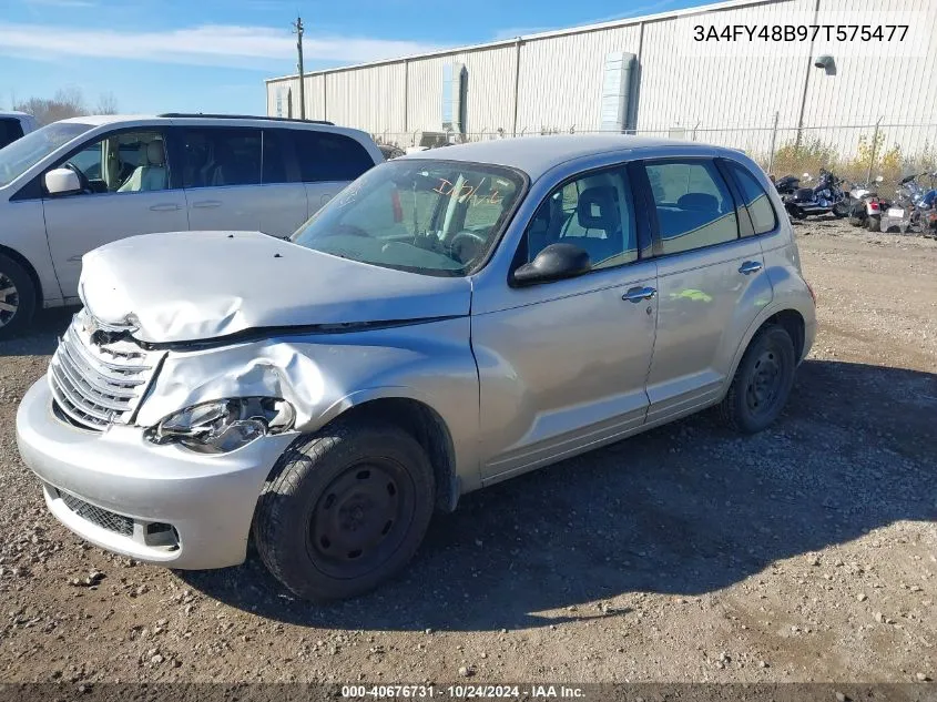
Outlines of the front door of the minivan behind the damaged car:
[{"label": "front door of the minivan behind the damaged car", "polygon": [[185,194],[176,186],[167,134],[134,128],[98,135],[52,167],[81,174],[84,190],[43,194],[45,234],[65,298],[78,295],[81,257],[103,244],[155,232],[189,228]]}]

